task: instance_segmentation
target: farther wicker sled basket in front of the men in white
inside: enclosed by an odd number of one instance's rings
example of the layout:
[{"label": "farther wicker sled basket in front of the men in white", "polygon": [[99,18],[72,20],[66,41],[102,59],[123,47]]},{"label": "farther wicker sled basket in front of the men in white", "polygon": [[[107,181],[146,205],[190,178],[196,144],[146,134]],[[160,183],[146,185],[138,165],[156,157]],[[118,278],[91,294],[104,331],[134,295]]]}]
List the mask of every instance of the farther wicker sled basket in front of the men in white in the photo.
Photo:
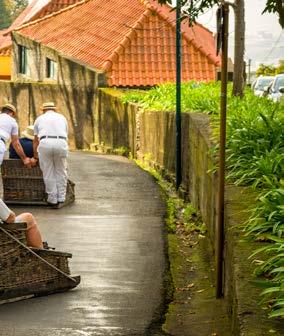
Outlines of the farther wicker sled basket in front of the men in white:
[{"label": "farther wicker sled basket in front of the men in white", "polygon": [[[3,200],[7,204],[47,205],[40,167],[28,169],[21,160],[4,160],[1,166]],[[75,183],[68,180],[64,205],[75,200]]]}]

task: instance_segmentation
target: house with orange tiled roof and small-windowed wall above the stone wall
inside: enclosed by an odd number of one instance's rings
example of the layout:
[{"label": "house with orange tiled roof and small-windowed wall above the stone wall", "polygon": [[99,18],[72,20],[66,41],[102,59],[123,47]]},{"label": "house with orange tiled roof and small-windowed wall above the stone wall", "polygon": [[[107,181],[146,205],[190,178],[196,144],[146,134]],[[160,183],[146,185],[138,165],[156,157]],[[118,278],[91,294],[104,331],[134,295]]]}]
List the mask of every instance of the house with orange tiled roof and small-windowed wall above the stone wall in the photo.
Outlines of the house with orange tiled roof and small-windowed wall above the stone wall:
[{"label": "house with orange tiled roof and small-windowed wall above the stone wall", "polygon": [[[81,85],[74,63],[100,85],[175,81],[175,13],[154,0],[80,1],[16,28],[12,40],[13,80]],[[215,80],[220,60],[208,29],[182,23],[182,54],[183,81]]]}]

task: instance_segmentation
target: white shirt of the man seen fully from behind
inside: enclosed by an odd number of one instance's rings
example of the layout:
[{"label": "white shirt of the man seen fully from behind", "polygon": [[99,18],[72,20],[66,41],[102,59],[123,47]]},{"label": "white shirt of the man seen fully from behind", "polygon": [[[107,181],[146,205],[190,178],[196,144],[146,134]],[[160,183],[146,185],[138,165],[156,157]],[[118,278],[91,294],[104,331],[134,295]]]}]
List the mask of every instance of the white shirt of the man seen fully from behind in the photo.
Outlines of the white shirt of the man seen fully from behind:
[{"label": "white shirt of the man seen fully from behind", "polygon": [[68,124],[66,118],[53,110],[48,110],[36,118],[34,134],[41,138],[44,135],[64,136],[67,138]]}]

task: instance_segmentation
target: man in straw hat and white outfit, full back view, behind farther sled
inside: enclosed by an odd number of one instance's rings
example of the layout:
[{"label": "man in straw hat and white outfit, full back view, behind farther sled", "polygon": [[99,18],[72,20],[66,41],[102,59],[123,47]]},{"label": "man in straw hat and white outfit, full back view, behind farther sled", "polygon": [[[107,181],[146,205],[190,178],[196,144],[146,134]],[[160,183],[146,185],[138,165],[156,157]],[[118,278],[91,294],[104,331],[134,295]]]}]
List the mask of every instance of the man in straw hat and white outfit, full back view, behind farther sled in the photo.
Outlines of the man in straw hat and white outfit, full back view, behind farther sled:
[{"label": "man in straw hat and white outfit, full back view, behind farther sled", "polygon": [[43,104],[43,114],[34,124],[34,158],[39,159],[47,202],[63,203],[67,187],[68,124],[66,118],[56,112],[54,103]]}]

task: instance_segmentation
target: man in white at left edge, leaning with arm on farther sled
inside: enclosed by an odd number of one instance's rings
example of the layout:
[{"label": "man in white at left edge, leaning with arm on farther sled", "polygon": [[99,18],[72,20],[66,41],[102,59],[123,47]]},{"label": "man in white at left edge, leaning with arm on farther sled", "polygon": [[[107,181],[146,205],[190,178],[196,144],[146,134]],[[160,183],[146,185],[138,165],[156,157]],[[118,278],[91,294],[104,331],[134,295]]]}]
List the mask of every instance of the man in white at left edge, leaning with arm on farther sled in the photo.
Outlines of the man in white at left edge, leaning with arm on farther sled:
[{"label": "man in white at left edge, leaning with arm on farther sled", "polygon": [[11,143],[27,167],[31,167],[31,160],[26,156],[23,147],[19,142],[19,128],[16,120],[16,108],[12,104],[5,104],[0,113],[0,165],[3,162],[6,151],[6,142],[11,138]]}]

